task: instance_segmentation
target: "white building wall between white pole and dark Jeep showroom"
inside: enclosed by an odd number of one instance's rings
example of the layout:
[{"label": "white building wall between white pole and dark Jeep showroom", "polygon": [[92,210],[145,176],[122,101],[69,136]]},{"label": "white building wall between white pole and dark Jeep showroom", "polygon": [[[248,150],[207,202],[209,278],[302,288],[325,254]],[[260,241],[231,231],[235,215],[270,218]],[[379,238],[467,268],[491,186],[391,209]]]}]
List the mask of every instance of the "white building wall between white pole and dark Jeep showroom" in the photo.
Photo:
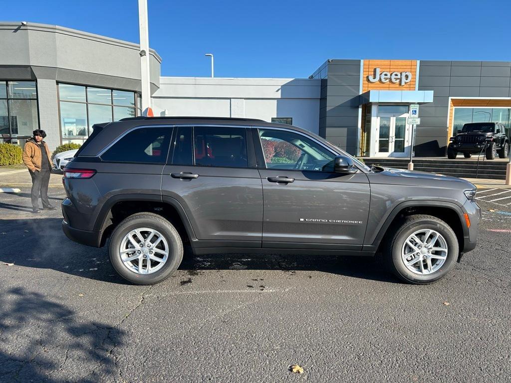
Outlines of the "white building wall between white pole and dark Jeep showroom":
[{"label": "white building wall between white pole and dark Jeep showroom", "polygon": [[293,125],[318,133],[320,80],[161,77],[153,95],[154,115],[246,117]]}]

